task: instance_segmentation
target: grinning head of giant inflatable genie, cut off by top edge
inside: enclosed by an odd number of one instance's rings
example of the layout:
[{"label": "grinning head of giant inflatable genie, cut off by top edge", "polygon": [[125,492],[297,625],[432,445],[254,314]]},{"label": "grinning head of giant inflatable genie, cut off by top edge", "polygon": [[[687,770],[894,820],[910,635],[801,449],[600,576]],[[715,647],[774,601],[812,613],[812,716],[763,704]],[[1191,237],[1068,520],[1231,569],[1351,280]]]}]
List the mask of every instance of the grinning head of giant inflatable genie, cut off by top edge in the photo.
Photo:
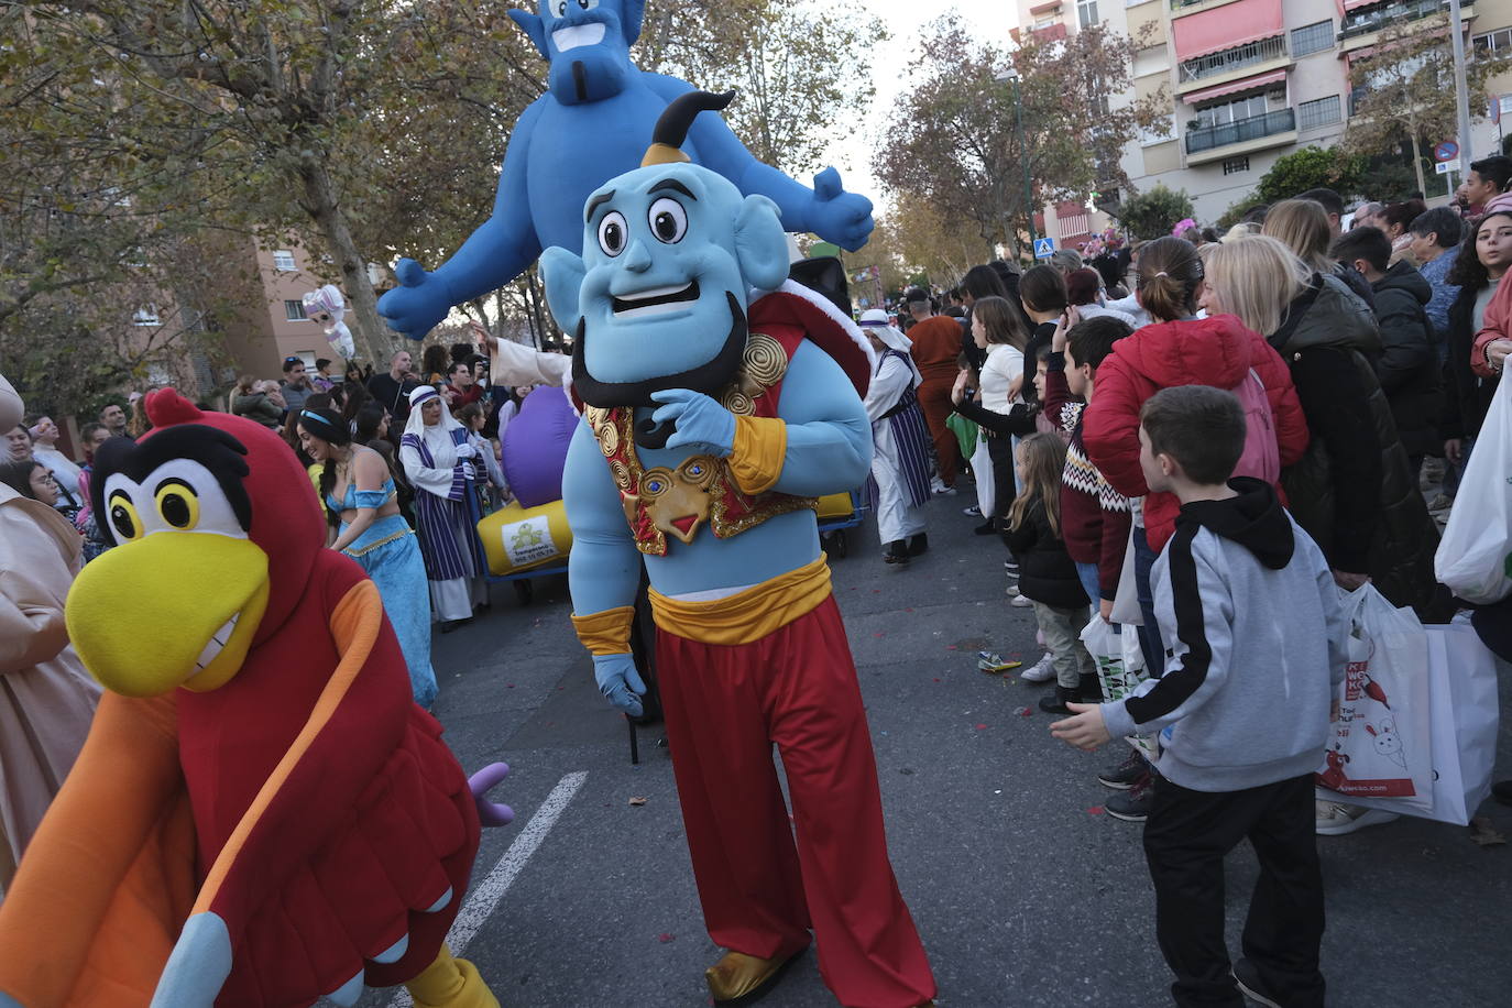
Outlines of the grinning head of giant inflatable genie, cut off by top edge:
[{"label": "grinning head of giant inflatable genie, cut off by top edge", "polygon": [[540,15],[510,11],[510,17],[550,62],[552,95],[578,104],[624,91],[644,12],[646,0],[541,0]]}]

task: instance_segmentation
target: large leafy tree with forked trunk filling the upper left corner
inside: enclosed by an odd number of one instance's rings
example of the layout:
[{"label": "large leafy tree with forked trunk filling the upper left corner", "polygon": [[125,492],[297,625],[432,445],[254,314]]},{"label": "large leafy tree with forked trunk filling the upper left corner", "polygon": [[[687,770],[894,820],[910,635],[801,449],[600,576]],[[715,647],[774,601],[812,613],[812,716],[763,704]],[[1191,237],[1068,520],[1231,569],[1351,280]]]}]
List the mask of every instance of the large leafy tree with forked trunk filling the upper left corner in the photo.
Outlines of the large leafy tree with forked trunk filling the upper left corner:
[{"label": "large leafy tree with forked trunk filling the upper left corner", "polygon": [[[373,228],[363,234],[363,209],[413,224],[386,195],[440,203],[448,168],[485,148],[467,110],[508,109],[500,91],[529,85],[510,73],[528,42],[502,8],[473,0],[59,0],[29,3],[14,20],[29,27],[26,50],[8,53],[42,86],[17,91],[12,107],[33,128],[91,138],[80,159],[92,138],[106,141],[98,184],[115,192],[109,177],[125,171],[147,234],[181,224],[265,243],[301,239],[351,301],[367,360],[383,360],[393,335],[367,278],[386,243]],[[42,168],[54,183],[65,169]],[[33,189],[33,203],[57,210],[54,192]]]}]

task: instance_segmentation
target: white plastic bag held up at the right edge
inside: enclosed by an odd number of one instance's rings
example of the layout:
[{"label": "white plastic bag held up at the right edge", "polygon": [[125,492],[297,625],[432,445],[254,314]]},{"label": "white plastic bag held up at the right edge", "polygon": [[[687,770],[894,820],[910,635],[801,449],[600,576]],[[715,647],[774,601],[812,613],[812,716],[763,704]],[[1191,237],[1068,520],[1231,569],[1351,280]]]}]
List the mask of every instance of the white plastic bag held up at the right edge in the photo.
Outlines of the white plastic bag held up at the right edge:
[{"label": "white plastic bag held up at the right edge", "polygon": [[1459,481],[1433,573],[1465,601],[1512,595],[1512,382],[1504,378]]}]

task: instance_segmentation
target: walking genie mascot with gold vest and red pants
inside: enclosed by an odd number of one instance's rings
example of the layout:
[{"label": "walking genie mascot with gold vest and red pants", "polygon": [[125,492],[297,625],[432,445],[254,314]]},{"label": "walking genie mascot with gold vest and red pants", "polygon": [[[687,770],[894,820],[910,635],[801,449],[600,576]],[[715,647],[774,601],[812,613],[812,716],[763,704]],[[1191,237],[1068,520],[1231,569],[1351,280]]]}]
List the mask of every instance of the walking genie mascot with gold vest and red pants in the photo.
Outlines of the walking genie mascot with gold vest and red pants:
[{"label": "walking genie mascot with gold vest and red pants", "polygon": [[779,207],[679,150],[699,110],[730,97],[674,101],[643,168],[587,199],[584,254],[541,257],[584,407],[562,479],[573,623],[600,691],[638,715],[644,562],[688,849],[729,949],[706,975],[714,1000],[759,993],[812,928],[841,1003],[924,1005],[934,978],[888,860],[813,511],[866,478],[874,358],[850,319],[786,281]]}]

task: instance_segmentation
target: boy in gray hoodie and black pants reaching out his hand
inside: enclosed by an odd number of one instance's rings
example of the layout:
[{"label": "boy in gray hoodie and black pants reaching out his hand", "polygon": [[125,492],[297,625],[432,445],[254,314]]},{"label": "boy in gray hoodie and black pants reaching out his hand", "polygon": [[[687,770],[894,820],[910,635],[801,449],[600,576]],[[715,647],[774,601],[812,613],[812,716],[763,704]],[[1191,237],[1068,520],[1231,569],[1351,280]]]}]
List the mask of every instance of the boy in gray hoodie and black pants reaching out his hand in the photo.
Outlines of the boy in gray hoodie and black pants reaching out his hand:
[{"label": "boy in gray hoodie and black pants reaching out his hand", "polygon": [[[1323,880],[1312,772],[1344,679],[1349,627],[1321,550],[1258,479],[1232,393],[1166,388],[1140,411],[1140,467],[1176,494],[1152,582],[1166,674],[1125,700],[1067,704],[1051,731],[1092,750],[1161,733],[1145,857],[1178,1005],[1321,1008]],[[1169,730],[1166,730],[1169,728]],[[1223,942],[1223,857],[1249,837],[1259,880],[1244,957]]]}]

